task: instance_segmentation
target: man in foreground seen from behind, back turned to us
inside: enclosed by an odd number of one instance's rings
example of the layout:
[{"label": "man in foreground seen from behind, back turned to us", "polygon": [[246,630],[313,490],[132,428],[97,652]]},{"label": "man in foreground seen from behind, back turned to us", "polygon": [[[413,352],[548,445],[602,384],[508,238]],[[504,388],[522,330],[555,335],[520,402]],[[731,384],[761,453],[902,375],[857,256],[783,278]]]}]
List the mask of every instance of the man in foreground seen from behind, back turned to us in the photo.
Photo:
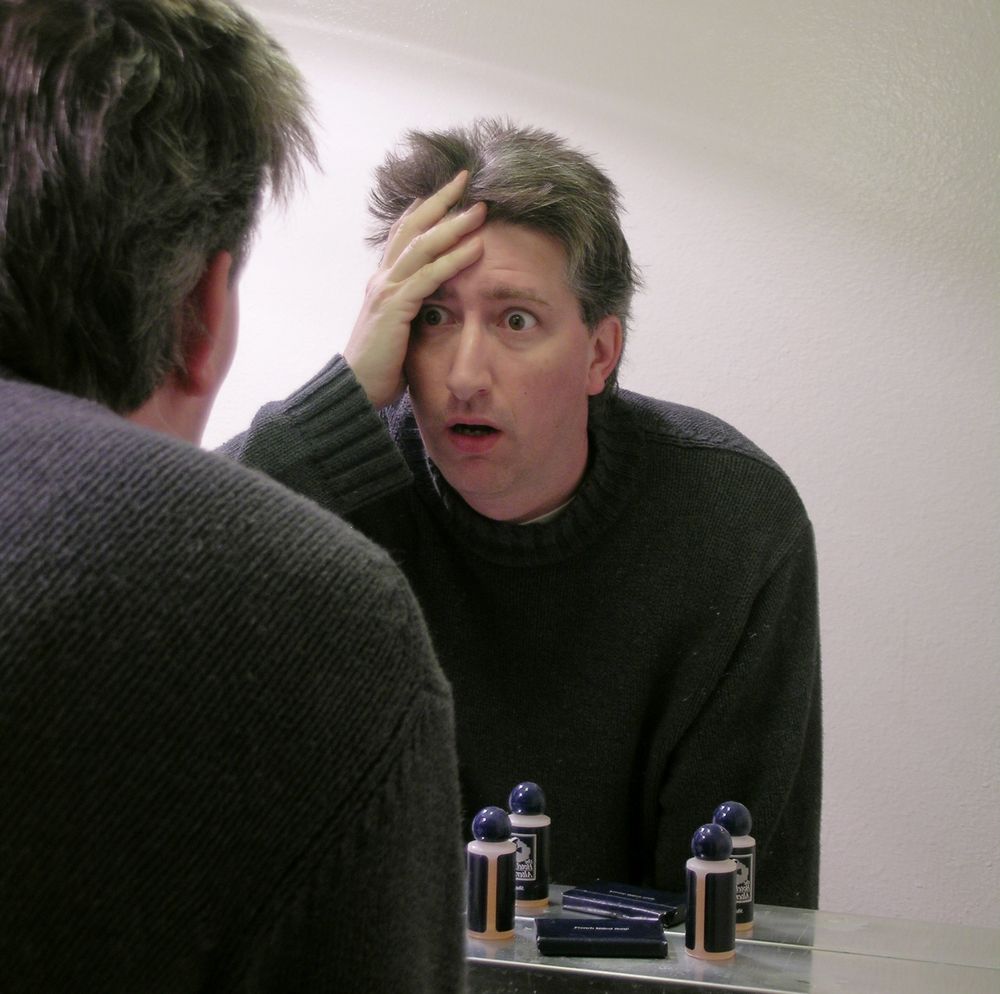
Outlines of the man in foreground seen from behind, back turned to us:
[{"label": "man in foreground seen from behind, back turned to us", "polygon": [[197,448],[300,77],[225,0],[2,0],[0,79],[0,986],[461,989],[416,601]]}]

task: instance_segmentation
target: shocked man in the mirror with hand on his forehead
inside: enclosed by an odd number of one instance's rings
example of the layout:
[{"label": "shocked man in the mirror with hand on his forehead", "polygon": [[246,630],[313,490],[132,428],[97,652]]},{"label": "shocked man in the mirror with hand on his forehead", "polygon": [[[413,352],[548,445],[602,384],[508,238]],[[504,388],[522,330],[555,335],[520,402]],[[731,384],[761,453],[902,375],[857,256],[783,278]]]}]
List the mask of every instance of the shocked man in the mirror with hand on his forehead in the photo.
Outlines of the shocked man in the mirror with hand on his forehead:
[{"label": "shocked man in the mirror with hand on his forehead", "polygon": [[614,186],[554,135],[479,121],[412,133],[372,209],[384,255],[344,357],[229,450],[403,567],[467,815],[534,780],[555,880],[679,889],[738,800],[758,900],[815,906],[811,527],[734,429],[617,388],[637,275]]}]

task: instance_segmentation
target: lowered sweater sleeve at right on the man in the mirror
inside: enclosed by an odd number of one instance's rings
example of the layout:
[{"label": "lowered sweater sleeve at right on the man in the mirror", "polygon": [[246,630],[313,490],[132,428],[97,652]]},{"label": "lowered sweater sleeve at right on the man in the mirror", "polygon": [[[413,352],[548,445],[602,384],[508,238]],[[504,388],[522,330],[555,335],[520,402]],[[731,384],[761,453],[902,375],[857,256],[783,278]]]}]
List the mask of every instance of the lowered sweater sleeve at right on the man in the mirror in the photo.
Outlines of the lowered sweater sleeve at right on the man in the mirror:
[{"label": "lowered sweater sleeve at right on the man in the mirror", "polygon": [[[678,743],[659,799],[655,877],[677,889],[697,824],[673,817],[740,801],[753,818],[756,900],[815,908],[822,729],[812,529],[752,599],[728,665]],[[701,824],[702,822],[699,822]]]}]

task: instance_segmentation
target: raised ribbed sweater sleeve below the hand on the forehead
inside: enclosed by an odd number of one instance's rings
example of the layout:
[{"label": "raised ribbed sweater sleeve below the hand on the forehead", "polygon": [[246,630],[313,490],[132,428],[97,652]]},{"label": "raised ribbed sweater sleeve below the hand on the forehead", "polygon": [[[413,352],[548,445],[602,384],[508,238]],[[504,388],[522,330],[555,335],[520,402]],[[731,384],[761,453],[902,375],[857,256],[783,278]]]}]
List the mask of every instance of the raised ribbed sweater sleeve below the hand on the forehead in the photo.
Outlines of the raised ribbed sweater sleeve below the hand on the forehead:
[{"label": "raised ribbed sweater sleeve below the hand on the forehead", "polygon": [[342,516],[412,479],[342,356],[285,400],[265,404],[219,451]]}]

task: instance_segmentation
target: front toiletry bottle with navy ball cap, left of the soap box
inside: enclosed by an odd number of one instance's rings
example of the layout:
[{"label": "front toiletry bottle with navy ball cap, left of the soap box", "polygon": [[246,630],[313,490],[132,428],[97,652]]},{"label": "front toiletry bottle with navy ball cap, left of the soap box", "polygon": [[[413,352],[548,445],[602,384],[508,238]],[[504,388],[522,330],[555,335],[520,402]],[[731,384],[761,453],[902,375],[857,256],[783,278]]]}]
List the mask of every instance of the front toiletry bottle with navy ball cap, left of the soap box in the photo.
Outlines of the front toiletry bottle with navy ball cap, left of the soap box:
[{"label": "front toiletry bottle with navy ball cap, left of the soap box", "polygon": [[472,819],[473,841],[466,847],[468,930],[477,939],[514,935],[514,860],[510,818],[503,808],[483,808]]}]

